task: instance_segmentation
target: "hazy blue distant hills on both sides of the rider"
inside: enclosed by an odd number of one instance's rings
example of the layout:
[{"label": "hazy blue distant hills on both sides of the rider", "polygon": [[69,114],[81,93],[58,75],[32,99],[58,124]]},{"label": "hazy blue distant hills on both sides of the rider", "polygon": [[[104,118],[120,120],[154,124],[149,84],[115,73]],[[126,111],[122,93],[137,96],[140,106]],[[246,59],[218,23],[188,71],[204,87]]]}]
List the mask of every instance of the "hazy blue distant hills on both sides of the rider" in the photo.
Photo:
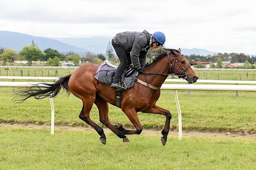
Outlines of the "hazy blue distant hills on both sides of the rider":
[{"label": "hazy blue distant hills on both sides of the rider", "polygon": [[[37,46],[44,51],[47,48],[56,49],[61,53],[75,52],[81,57],[85,56],[85,52],[95,54],[106,54],[107,45],[111,42],[112,37],[80,37],[80,38],[57,38],[57,37],[35,37],[28,34],[0,31],[0,47],[12,48],[21,51],[24,46],[30,46],[34,41]],[[213,55],[215,52],[210,52],[205,49],[186,49],[181,48],[181,53],[184,55]]]}]

